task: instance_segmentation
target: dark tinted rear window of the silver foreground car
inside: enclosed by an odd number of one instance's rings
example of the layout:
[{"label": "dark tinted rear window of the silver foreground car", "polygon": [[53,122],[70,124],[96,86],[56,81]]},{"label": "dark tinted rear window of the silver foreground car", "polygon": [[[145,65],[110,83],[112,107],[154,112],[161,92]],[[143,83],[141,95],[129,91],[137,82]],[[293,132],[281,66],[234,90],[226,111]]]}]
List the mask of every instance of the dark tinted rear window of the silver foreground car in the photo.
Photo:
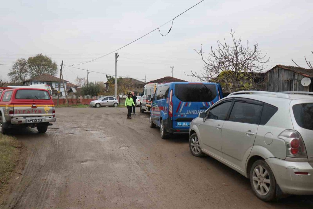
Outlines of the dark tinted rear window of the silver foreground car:
[{"label": "dark tinted rear window of the silver foreground car", "polygon": [[313,103],[293,105],[292,111],[300,127],[313,130]]}]

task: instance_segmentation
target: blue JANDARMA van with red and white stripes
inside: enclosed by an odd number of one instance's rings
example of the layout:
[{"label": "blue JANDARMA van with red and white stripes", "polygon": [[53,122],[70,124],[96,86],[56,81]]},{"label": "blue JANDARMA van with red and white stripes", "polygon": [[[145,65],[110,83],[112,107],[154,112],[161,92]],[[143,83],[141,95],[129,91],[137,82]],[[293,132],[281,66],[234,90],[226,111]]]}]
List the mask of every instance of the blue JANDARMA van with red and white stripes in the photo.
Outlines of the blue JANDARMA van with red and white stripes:
[{"label": "blue JANDARMA van with red and white stripes", "polygon": [[159,85],[152,100],[150,127],[160,127],[161,138],[170,133],[188,133],[190,122],[219,99],[222,88],[217,83],[172,82]]}]

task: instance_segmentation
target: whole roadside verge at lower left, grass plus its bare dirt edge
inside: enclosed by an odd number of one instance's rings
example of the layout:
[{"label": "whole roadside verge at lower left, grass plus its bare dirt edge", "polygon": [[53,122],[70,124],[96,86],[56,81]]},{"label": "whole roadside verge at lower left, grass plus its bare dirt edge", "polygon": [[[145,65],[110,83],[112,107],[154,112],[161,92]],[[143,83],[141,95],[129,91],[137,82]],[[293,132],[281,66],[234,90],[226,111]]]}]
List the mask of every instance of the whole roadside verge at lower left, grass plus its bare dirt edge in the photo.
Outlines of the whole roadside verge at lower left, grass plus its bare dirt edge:
[{"label": "whole roadside verge at lower left, grass plus its bare dirt edge", "polygon": [[26,149],[16,138],[0,134],[0,206],[4,205],[13,184],[20,178],[18,170],[23,164],[25,152]]}]

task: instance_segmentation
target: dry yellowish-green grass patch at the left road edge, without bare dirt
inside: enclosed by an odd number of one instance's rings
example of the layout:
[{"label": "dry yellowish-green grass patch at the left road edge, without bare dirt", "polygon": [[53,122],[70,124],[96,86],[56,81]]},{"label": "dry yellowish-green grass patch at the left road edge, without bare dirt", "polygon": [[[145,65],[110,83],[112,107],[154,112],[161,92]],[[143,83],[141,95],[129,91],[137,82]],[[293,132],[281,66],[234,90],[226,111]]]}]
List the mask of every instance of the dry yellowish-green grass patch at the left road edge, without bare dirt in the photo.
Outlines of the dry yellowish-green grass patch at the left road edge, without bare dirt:
[{"label": "dry yellowish-green grass patch at the left road edge, without bare dirt", "polygon": [[0,189],[11,177],[18,163],[21,142],[14,137],[0,134]]}]

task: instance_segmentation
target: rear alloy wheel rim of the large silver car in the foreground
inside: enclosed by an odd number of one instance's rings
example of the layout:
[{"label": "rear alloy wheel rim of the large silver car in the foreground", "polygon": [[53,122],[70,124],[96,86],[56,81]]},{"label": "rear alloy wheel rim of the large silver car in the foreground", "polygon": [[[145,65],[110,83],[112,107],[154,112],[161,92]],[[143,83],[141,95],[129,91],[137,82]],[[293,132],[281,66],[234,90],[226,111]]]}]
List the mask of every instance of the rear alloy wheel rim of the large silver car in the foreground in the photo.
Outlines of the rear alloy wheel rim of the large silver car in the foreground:
[{"label": "rear alloy wheel rim of the large silver car in the foreground", "polygon": [[254,189],[259,193],[259,195],[264,196],[269,193],[271,181],[269,179],[269,173],[263,166],[258,165],[254,168],[252,182]]}]

